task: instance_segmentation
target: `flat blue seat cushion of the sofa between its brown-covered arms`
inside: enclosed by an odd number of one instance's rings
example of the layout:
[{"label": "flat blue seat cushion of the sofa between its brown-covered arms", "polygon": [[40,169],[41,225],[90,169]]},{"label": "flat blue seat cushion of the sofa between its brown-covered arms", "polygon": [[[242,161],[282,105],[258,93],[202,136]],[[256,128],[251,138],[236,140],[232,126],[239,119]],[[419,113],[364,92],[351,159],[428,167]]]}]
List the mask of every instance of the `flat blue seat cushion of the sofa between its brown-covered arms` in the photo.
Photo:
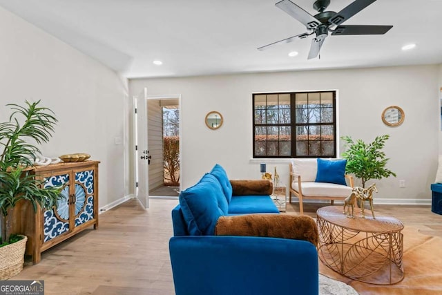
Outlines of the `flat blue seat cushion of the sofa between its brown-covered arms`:
[{"label": "flat blue seat cushion of the sofa between its brown-covered arms", "polygon": [[239,213],[279,213],[279,210],[270,196],[233,196],[229,215]]}]

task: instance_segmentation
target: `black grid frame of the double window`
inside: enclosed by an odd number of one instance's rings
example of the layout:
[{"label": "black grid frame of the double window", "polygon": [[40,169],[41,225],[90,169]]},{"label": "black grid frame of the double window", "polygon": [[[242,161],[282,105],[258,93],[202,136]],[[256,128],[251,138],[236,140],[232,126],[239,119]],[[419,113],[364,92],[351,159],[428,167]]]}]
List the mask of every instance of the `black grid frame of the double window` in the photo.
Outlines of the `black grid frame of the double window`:
[{"label": "black grid frame of the double window", "polygon": [[[262,159],[262,158],[269,158],[269,159],[285,159],[285,158],[336,158],[337,149],[338,149],[338,139],[336,137],[337,131],[336,131],[336,90],[327,90],[327,91],[294,91],[294,92],[275,92],[275,93],[252,93],[252,155],[253,159]],[[318,122],[318,123],[296,123],[296,94],[303,94],[307,93],[318,93],[319,95],[321,93],[332,93],[332,106],[333,106],[333,122]],[[255,99],[257,95],[290,95],[290,123],[289,124],[256,124],[255,120]],[[267,105],[267,102],[266,102]],[[291,154],[290,155],[256,155],[255,148],[256,148],[256,127],[259,126],[273,126],[273,127],[279,127],[279,126],[290,126],[291,127]],[[334,153],[333,155],[297,155],[296,151],[296,127],[297,126],[333,126],[333,142],[334,142]],[[294,140],[293,140],[294,139]],[[310,140],[307,140],[307,146],[309,145],[308,142]],[[267,142],[267,140],[266,140]],[[278,140],[278,142],[280,142]],[[322,140],[319,140],[320,144],[322,144]],[[279,144],[278,144],[279,145]],[[320,146],[321,149],[321,146]]]}]

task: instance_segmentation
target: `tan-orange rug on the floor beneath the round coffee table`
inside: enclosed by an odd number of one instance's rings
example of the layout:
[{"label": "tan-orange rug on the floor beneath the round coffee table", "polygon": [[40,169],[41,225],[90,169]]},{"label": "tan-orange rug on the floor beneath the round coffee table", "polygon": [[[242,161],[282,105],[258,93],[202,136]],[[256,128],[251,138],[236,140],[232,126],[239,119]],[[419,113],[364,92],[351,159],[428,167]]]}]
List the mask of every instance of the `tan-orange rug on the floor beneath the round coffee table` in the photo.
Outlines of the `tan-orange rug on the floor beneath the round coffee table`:
[{"label": "tan-orange rug on the floor beneath the round coffee table", "polygon": [[362,283],[341,276],[322,262],[319,263],[319,272],[354,287],[361,295],[442,294],[442,238],[421,234],[416,227],[405,226],[402,233],[405,276],[399,283],[394,285]]}]

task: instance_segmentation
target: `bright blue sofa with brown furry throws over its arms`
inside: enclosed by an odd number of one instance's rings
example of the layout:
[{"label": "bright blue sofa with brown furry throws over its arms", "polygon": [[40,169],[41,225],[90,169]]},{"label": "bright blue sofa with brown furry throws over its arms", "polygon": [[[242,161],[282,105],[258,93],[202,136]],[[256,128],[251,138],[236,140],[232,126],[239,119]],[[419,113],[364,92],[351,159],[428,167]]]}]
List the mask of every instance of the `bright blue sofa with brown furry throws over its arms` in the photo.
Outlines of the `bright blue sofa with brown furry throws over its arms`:
[{"label": "bright blue sofa with brown furry throws over its arms", "polygon": [[169,241],[177,295],[318,294],[318,252],[305,240],[214,236],[220,216],[279,213],[269,195],[235,196],[215,165],[180,193]]}]

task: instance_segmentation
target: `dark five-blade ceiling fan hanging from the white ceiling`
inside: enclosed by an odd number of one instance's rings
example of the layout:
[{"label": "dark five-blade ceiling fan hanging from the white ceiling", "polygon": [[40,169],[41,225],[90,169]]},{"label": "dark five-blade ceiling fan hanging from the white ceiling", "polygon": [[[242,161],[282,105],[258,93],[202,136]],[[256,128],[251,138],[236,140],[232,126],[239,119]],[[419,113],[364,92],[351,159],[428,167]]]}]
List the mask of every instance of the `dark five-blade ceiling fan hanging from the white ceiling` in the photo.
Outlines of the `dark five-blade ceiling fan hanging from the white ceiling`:
[{"label": "dark five-blade ceiling fan hanging from the white ceiling", "polygon": [[340,12],[325,11],[330,4],[330,0],[317,0],[313,4],[313,8],[319,13],[310,15],[309,12],[303,10],[290,0],[282,0],[276,3],[276,7],[287,12],[291,17],[300,21],[308,30],[308,32],[289,37],[280,41],[273,42],[266,46],[258,48],[258,50],[266,50],[277,44],[285,44],[296,39],[304,39],[309,35],[316,34],[311,40],[311,47],[308,59],[313,59],[319,55],[321,46],[323,46],[325,38],[329,32],[332,35],[383,35],[393,26],[341,26],[344,21],[356,15],[376,0],[356,0],[350,3]]}]

